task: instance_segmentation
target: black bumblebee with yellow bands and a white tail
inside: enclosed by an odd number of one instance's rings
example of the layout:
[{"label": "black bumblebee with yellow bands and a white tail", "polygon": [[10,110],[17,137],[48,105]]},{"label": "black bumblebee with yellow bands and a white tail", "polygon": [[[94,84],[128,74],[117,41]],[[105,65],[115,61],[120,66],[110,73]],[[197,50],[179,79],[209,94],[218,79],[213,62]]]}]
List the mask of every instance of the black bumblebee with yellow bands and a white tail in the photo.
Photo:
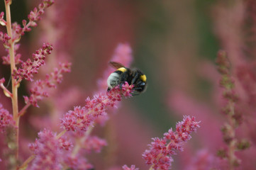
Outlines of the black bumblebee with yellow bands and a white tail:
[{"label": "black bumblebee with yellow bands and a white tail", "polygon": [[116,71],[111,73],[108,77],[108,91],[118,85],[121,88],[125,81],[127,81],[129,85],[133,84],[133,90],[138,92],[133,95],[141,94],[146,90],[147,77],[140,71],[140,69],[128,69],[118,62],[109,62],[109,64],[111,64]]}]

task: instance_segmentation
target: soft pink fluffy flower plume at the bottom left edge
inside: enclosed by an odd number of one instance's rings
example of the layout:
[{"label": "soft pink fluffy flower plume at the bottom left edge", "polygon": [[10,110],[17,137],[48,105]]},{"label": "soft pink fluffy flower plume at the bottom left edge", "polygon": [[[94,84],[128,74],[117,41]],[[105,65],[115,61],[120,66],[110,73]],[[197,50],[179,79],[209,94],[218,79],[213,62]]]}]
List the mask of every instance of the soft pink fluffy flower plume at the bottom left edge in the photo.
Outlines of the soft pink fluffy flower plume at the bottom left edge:
[{"label": "soft pink fluffy flower plume at the bottom left edge", "polygon": [[[65,145],[64,145],[65,144]],[[65,147],[64,147],[65,146]],[[38,139],[29,145],[29,149],[33,151],[35,159],[28,169],[62,169],[60,164],[62,159],[62,151],[71,147],[64,137],[57,139],[56,134],[50,130],[43,130],[38,133]]]}]

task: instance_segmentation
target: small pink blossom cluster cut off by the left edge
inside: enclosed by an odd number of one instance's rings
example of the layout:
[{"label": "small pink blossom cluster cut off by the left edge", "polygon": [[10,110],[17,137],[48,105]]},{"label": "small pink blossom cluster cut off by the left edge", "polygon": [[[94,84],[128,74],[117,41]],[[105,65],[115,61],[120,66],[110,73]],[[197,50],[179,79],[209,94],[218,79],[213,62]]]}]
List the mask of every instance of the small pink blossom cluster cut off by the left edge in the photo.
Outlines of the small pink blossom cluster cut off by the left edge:
[{"label": "small pink blossom cluster cut off by the left edge", "polygon": [[0,132],[5,132],[9,125],[14,125],[13,116],[0,103]]}]

